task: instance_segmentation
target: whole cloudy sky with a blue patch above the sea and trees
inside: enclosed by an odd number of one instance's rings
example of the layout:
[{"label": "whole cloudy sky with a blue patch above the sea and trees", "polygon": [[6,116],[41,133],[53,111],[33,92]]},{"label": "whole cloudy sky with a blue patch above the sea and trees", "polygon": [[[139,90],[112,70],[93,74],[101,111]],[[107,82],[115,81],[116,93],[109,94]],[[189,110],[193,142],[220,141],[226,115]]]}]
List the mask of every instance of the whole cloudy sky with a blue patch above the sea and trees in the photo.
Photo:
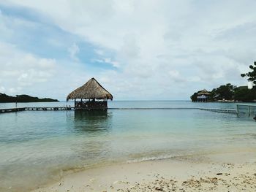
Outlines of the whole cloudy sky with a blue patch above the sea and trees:
[{"label": "whole cloudy sky with a blue patch above the sea and trees", "polygon": [[255,0],[0,1],[0,93],[65,100],[95,77],[114,100],[189,99],[256,60]]}]

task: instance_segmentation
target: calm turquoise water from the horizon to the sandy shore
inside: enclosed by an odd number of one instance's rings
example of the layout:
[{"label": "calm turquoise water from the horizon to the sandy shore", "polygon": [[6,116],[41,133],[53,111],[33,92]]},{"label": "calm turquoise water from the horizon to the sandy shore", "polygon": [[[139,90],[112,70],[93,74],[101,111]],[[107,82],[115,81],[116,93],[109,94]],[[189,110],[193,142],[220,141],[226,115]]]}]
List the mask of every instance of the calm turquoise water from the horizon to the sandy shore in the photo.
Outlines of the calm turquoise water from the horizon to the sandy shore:
[{"label": "calm turquoise water from the horizon to the sandy shore", "polygon": [[[63,106],[72,102],[29,103]],[[15,104],[0,104],[0,108]],[[109,107],[236,107],[233,103],[112,101]],[[0,191],[27,191],[65,171],[180,155],[256,150],[251,117],[201,110],[26,111],[0,115]]]}]

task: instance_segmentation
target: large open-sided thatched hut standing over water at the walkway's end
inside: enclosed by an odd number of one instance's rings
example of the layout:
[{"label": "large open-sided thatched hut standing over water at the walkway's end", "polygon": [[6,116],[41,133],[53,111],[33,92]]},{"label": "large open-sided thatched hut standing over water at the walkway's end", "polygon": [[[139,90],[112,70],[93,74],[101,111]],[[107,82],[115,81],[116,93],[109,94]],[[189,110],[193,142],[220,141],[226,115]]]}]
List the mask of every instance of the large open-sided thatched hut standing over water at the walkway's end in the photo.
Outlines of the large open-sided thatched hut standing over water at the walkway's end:
[{"label": "large open-sided thatched hut standing over water at the walkway's end", "polygon": [[69,99],[75,99],[75,110],[107,109],[108,99],[112,100],[113,96],[97,80],[91,78],[86,84],[69,93],[67,101]]}]

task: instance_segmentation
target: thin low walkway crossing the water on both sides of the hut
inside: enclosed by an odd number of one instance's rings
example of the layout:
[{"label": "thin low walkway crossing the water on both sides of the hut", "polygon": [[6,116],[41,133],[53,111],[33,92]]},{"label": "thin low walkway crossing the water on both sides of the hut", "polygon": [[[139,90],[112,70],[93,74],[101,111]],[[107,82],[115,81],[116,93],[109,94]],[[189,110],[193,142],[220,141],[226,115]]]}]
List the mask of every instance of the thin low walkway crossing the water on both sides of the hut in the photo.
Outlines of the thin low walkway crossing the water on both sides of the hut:
[{"label": "thin low walkway crossing the water on both sides of the hut", "polygon": [[[75,107],[20,107],[10,109],[0,109],[0,113],[5,112],[20,112],[20,111],[69,111],[75,110]],[[224,112],[237,114],[237,110],[233,109],[217,109],[217,108],[198,108],[198,107],[162,107],[162,108],[146,108],[146,107],[120,107],[108,108],[108,110],[205,110],[211,112]]]}]

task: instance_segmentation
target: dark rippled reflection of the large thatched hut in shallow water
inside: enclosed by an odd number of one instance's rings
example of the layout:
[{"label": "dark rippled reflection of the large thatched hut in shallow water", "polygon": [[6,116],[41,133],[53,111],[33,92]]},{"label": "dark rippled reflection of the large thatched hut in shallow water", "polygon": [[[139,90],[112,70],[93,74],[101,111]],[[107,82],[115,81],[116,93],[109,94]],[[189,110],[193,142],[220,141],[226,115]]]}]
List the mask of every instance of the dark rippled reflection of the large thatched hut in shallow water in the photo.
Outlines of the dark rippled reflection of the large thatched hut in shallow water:
[{"label": "dark rippled reflection of the large thatched hut in shallow water", "polygon": [[111,113],[106,110],[75,111],[74,130],[81,140],[79,146],[72,146],[72,150],[86,164],[100,162],[110,155],[111,140],[108,134],[111,119]]}]

